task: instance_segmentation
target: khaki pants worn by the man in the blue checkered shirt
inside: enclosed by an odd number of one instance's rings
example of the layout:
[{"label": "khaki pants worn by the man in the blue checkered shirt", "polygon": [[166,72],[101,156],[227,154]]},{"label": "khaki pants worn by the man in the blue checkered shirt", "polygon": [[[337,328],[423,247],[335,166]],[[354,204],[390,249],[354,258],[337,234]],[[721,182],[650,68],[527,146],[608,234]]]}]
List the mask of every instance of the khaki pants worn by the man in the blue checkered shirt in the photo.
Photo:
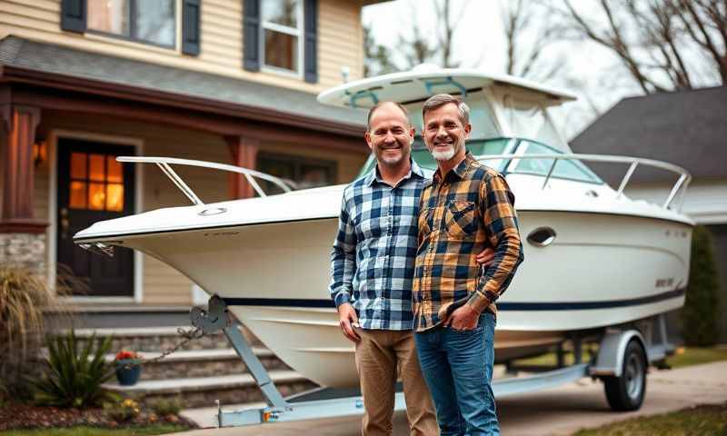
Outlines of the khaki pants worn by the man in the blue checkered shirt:
[{"label": "khaki pants worn by the man in the blue checkered shirt", "polygon": [[364,436],[390,435],[397,375],[403,383],[406,416],[412,435],[437,435],[439,426],[427,390],[413,333],[356,329],[356,369],[364,395]]}]

